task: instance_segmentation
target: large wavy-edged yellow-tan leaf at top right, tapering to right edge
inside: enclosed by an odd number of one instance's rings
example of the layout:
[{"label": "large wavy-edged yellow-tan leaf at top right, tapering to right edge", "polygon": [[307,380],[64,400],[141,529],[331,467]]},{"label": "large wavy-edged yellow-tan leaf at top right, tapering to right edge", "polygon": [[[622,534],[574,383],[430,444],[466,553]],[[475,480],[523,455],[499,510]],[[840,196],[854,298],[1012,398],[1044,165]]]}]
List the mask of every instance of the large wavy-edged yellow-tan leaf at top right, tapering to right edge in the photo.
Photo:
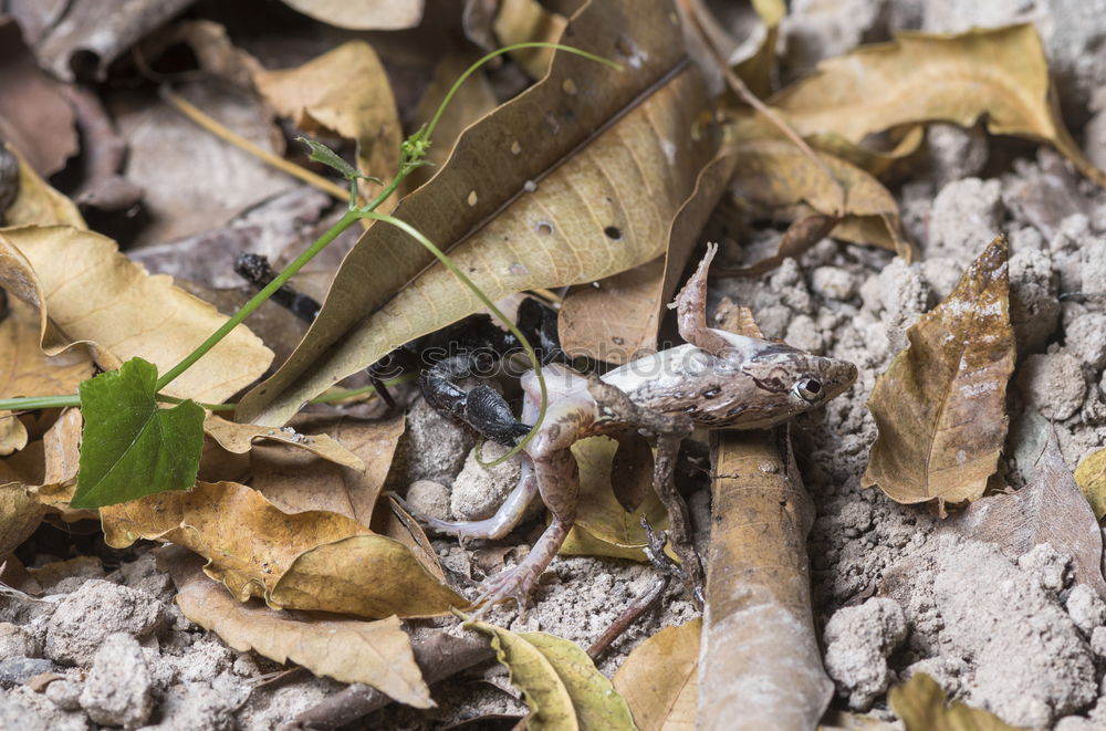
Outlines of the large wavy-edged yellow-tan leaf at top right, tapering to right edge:
[{"label": "large wavy-edged yellow-tan leaf at top right, tapering to right edge", "polygon": [[853,144],[899,125],[970,127],[982,117],[991,134],[1053,145],[1081,173],[1106,185],[1106,175],[1064,127],[1031,24],[956,35],[898,31],[893,43],[823,61],[770,104],[804,137],[835,134]]}]

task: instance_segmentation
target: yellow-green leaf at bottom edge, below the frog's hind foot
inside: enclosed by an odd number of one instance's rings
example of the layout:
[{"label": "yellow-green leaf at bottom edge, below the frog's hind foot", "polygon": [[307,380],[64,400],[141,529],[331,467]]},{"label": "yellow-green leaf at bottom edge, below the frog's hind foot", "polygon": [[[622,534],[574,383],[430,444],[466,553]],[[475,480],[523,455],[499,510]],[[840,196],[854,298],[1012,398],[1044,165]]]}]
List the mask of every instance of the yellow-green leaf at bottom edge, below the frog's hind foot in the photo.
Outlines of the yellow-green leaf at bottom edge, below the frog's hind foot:
[{"label": "yellow-green leaf at bottom edge, below the frog's hind foot", "polygon": [[530,707],[530,728],[635,729],[626,701],[575,643],[540,631],[515,634],[483,622],[465,626],[492,638],[495,657]]}]

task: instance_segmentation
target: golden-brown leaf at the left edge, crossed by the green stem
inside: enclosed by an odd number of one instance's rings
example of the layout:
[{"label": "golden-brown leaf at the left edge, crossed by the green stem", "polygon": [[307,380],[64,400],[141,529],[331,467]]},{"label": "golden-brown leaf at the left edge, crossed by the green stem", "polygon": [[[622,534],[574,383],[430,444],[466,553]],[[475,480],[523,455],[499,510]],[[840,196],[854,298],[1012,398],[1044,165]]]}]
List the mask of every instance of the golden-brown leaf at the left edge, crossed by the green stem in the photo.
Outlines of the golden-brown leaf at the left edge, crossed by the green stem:
[{"label": "golden-brown leaf at the left edge, crossed by the green stem", "polygon": [[[0,398],[75,394],[95,366],[84,347],[46,355],[39,347],[39,315],[34,307],[10,297],[0,321]],[[13,414],[0,415],[0,455],[27,445],[27,429]]]}]

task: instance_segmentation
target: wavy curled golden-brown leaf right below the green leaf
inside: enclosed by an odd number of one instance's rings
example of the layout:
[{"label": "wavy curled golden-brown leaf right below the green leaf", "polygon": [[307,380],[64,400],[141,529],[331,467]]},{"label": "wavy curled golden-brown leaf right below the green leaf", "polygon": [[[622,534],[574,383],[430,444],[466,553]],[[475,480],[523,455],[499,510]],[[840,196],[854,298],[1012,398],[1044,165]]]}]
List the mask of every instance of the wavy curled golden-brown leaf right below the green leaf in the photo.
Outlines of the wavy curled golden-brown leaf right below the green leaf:
[{"label": "wavy curled golden-brown leaf right below the green leaf", "polygon": [[466,601],[419,563],[407,546],[338,513],[289,514],[233,482],[199,482],[101,510],[104,539],[138,539],[191,549],[205,572],[244,602],[363,617],[430,616]]}]

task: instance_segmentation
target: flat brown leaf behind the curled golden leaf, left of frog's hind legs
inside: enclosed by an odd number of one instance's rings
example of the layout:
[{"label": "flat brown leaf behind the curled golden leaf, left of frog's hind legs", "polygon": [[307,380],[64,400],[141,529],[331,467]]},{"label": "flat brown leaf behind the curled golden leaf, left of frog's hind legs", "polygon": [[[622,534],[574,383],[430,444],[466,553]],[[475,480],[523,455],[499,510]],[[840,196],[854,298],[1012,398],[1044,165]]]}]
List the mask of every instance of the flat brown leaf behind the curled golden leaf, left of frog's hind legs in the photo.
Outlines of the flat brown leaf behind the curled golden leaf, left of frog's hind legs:
[{"label": "flat brown leaf behind the curled golden leaf, left of frog's hind legs", "polygon": [[286,513],[326,510],[368,526],[404,432],[404,415],[376,421],[301,415],[292,424],[333,435],[362,467],[334,463],[294,447],[258,445],[250,452],[253,489]]}]

